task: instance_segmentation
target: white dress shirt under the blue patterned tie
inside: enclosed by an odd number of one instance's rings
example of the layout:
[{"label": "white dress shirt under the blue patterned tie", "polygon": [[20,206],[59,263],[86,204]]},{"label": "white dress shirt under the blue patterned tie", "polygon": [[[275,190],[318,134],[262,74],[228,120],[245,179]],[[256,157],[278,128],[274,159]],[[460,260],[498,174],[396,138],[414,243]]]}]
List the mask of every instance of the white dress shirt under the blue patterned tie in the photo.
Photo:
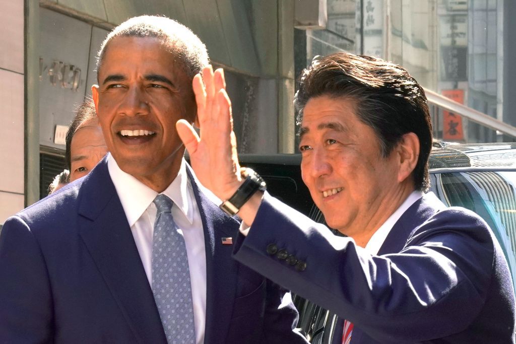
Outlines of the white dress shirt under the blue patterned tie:
[{"label": "white dress shirt under the blue patterned tie", "polygon": [[[122,171],[111,154],[107,157],[107,167],[122,203],[127,222],[131,226],[147,279],[152,287],[152,236],[157,211],[152,201],[158,193],[132,175]],[[172,217],[185,238],[196,342],[202,344],[206,323],[206,251],[202,220],[186,174],[184,159],[181,161],[178,176],[162,193],[174,202]]]}]

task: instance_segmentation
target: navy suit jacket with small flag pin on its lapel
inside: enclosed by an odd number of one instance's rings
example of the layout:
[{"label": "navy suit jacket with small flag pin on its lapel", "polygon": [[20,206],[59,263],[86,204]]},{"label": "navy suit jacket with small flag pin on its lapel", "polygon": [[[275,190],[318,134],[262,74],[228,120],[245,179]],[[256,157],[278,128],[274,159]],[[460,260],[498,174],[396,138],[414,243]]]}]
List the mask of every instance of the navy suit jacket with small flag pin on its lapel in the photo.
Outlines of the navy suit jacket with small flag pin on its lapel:
[{"label": "navy suit jacket with small flag pin on its lapel", "polygon": [[[304,342],[284,289],[232,259],[239,223],[199,192],[205,343]],[[106,160],[9,218],[0,237],[0,342],[166,343]]]}]

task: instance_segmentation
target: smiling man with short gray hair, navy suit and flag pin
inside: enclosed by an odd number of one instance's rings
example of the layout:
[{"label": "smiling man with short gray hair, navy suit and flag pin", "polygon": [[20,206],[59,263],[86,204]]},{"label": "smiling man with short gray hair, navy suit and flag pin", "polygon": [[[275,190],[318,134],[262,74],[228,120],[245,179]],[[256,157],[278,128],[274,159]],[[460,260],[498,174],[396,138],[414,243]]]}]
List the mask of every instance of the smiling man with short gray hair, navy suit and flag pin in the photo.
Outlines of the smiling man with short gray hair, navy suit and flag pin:
[{"label": "smiling man with short gray hair, navy suit and flag pin", "polygon": [[184,237],[189,342],[306,342],[295,331],[290,294],[231,258],[239,223],[210,200],[183,158],[175,123],[195,121],[192,77],[207,63],[204,44],[167,18],[133,18],[108,35],[92,94],[110,153],[86,177],[6,221],[0,342],[175,342],[152,289],[158,194],[172,200]]}]

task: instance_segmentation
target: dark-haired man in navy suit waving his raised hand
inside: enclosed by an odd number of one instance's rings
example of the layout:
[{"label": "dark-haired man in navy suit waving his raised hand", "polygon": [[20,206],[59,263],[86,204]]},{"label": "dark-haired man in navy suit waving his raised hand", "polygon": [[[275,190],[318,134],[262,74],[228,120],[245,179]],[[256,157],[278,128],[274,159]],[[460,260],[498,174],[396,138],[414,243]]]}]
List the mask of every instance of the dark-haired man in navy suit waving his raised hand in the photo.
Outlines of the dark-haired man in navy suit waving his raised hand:
[{"label": "dark-haired man in navy suit waving his raised hand", "polygon": [[238,261],[344,319],[334,342],[514,343],[514,289],[493,233],[425,193],[432,128],[405,69],[338,53],[300,79],[302,178],[347,237],[239,172],[223,75],[203,80],[193,80],[201,138],[185,121],[178,133],[201,182],[243,219]]}]

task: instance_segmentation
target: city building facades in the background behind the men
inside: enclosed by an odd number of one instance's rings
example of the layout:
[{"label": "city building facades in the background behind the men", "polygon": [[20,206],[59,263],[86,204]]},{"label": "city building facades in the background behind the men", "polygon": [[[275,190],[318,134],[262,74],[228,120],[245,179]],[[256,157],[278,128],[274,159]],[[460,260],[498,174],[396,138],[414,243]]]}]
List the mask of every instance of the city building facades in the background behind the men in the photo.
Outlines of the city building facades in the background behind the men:
[{"label": "city building facades in the background behind the men", "polygon": [[163,14],[223,67],[240,153],[296,153],[296,77],[337,51],[398,63],[425,87],[436,139],[516,137],[512,0],[0,0],[0,225],[46,195],[109,30]]}]

